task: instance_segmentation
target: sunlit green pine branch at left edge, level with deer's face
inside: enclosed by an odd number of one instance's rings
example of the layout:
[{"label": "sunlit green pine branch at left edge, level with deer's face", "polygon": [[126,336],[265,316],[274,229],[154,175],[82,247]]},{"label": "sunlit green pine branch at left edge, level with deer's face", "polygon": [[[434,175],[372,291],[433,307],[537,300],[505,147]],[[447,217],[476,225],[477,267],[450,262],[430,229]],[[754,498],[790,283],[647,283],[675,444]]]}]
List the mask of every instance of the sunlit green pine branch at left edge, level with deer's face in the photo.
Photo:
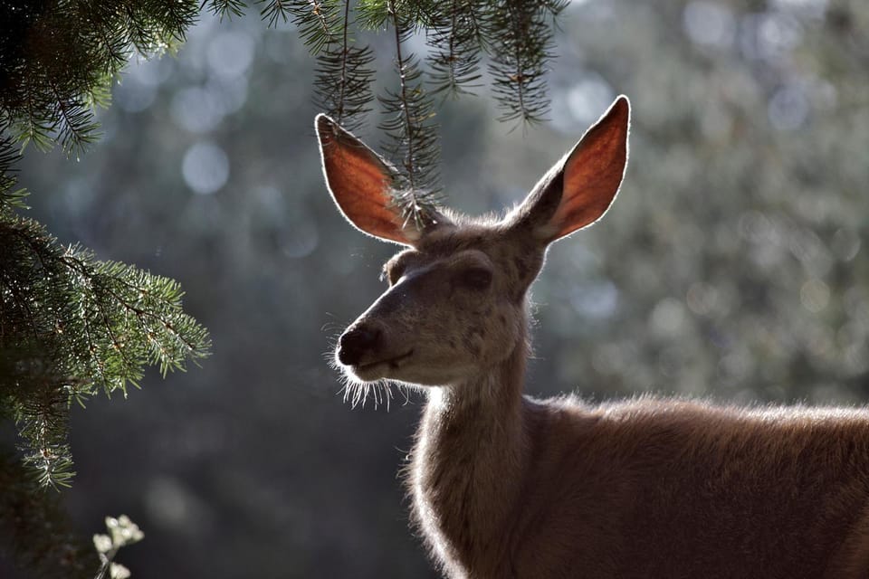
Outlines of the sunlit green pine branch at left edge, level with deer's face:
[{"label": "sunlit green pine branch at left edge, level with deer's face", "polygon": [[0,214],[0,394],[42,486],[72,479],[69,404],[138,385],[145,365],[183,369],[208,353],[177,282],[64,248],[33,221]]}]

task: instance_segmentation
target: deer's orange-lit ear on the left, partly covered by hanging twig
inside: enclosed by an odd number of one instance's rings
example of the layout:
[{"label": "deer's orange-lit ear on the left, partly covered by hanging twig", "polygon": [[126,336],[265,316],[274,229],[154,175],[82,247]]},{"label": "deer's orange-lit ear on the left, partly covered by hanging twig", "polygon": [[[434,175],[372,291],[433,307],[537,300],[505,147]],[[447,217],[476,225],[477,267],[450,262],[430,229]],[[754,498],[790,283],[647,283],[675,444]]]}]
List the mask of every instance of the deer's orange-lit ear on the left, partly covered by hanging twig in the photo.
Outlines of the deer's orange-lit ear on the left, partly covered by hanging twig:
[{"label": "deer's orange-lit ear on the left, partly covered by hanging twig", "polygon": [[404,226],[390,195],[395,170],[326,115],[317,115],[314,124],[326,185],[341,213],[363,233],[413,245],[419,233]]}]

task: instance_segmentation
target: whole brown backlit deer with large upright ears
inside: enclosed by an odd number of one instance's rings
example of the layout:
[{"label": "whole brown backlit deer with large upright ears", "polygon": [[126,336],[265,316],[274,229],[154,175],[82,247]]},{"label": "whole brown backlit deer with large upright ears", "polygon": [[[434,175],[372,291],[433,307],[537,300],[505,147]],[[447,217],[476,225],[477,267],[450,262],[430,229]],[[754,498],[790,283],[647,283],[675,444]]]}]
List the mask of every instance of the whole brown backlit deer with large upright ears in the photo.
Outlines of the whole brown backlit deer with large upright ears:
[{"label": "whole brown backlit deer with large upright ears", "polygon": [[339,212],[403,246],[340,335],[362,387],[421,390],[412,517],[457,578],[869,577],[869,413],[638,395],[523,394],[529,288],[549,245],[596,223],[628,158],[618,97],[500,217],[408,219],[396,169],[334,120],[315,128]]}]

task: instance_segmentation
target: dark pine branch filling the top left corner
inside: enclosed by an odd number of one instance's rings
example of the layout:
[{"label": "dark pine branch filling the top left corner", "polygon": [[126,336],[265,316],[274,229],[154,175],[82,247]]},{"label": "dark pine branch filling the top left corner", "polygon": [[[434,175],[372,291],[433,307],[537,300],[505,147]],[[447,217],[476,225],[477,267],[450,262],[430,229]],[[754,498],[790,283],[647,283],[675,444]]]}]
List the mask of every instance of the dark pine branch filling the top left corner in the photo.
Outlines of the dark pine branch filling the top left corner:
[{"label": "dark pine branch filling the top left corner", "polygon": [[0,118],[15,140],[78,154],[133,50],[171,50],[197,13],[195,0],[0,5]]}]

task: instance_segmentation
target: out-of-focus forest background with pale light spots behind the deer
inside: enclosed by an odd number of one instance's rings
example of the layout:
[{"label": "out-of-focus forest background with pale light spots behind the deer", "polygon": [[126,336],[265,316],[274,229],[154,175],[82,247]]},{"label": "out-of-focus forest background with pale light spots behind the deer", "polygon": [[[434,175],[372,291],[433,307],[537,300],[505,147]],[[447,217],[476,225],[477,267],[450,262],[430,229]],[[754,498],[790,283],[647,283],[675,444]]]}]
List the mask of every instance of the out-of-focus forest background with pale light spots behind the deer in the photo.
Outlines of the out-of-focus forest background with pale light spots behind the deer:
[{"label": "out-of-focus forest background with pale light spots behind the deer", "polygon": [[[533,288],[528,392],[869,401],[869,4],[575,1],[556,52],[548,124],[511,130],[484,90],[440,117],[449,203],[478,214],[634,106],[616,204]],[[84,536],[142,527],[119,555],[139,579],[436,576],[396,474],[423,397],[352,409],[325,360],[396,248],[329,199],[312,68],[291,26],[204,14],[177,58],[129,68],[80,162],[27,151],[33,217],[180,281],[214,339],[72,414],[64,497]]]}]

